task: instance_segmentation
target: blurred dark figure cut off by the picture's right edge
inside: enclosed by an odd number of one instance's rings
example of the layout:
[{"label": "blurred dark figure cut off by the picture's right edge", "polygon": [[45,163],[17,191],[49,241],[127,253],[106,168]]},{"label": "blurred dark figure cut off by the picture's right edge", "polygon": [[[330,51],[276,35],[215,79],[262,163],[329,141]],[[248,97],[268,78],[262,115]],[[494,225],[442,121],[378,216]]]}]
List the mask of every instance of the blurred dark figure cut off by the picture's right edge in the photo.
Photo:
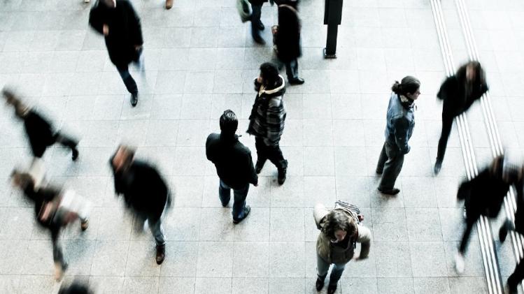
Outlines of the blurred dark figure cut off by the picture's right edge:
[{"label": "blurred dark figure cut off by the picture's right edge", "polygon": [[[516,189],[516,203],[517,211],[515,212],[515,222],[507,219],[499,230],[500,242],[506,240],[509,230],[515,230],[516,233],[524,235],[524,165],[511,166],[506,168],[506,177],[509,177],[509,182],[514,182]],[[513,179],[511,179],[513,177]],[[516,294],[517,286],[524,279],[524,258],[516,265],[515,270],[507,281],[507,288],[509,293]]]}]

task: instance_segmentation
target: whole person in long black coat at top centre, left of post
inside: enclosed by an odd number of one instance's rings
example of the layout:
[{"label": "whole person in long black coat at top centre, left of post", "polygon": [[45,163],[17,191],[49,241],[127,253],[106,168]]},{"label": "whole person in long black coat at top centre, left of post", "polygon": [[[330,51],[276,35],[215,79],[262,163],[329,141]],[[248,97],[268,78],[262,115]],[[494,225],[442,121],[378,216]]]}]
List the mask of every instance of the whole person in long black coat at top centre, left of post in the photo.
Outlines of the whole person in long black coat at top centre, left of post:
[{"label": "whole person in long black coat at top centre, left of post", "polygon": [[[276,55],[285,64],[290,84],[304,84],[298,76],[297,58],[302,56],[300,45],[300,19],[297,10],[285,4],[278,5],[278,29],[274,33]],[[296,2],[295,2],[296,3]]]}]

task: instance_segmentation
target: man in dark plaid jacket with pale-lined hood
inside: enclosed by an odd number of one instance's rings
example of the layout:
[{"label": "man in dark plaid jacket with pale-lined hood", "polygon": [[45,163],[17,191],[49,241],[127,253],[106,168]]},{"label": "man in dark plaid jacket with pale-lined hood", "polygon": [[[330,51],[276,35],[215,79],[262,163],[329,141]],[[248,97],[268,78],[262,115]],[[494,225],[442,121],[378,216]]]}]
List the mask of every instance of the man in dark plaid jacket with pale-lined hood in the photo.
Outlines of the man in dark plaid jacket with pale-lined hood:
[{"label": "man in dark plaid jacket with pale-lined hood", "polygon": [[288,161],[284,159],[279,142],[284,131],[285,109],[283,97],[285,82],[274,64],[260,66],[260,76],[255,79],[257,97],[249,116],[247,133],[255,136],[257,164],[260,173],[269,159],[278,169],[278,184],[284,184]]}]

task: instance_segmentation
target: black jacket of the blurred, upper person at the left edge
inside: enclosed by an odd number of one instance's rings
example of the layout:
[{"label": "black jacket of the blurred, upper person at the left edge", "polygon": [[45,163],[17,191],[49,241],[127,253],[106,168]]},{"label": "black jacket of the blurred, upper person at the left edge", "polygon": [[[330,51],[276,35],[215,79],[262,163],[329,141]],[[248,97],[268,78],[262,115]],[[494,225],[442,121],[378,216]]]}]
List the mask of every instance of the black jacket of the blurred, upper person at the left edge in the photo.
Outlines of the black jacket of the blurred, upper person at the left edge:
[{"label": "black jacket of the blurred, upper person at the left edge", "polygon": [[55,144],[55,132],[50,122],[34,110],[29,110],[23,119],[31,151],[35,157],[42,157],[45,149]]}]

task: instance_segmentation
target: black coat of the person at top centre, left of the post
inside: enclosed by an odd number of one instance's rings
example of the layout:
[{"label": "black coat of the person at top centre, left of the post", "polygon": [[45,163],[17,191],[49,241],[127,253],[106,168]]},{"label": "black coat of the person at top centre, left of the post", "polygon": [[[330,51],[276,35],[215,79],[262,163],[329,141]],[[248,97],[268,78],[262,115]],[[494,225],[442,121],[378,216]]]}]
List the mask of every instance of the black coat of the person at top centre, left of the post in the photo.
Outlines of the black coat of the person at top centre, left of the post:
[{"label": "black coat of the person at top centre, left of the post", "polygon": [[288,62],[302,56],[300,20],[295,8],[278,6],[278,32],[275,36],[278,59]]}]

